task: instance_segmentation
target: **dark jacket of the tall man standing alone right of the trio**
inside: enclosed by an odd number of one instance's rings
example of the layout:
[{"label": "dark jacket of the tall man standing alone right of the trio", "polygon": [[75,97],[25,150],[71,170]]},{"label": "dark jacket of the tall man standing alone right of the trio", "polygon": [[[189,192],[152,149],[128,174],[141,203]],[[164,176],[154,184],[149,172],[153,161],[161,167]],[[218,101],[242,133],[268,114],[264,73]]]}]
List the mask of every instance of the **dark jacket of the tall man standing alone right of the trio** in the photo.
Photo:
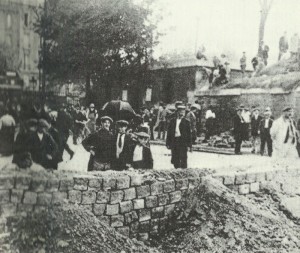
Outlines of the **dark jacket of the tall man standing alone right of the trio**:
[{"label": "dark jacket of the tall man standing alone right of the trio", "polygon": [[[172,148],[174,146],[175,128],[176,128],[176,118],[173,118],[171,119],[168,127],[167,141],[166,141],[167,147]],[[179,130],[181,133],[182,145],[185,145],[186,147],[192,147],[191,127],[190,127],[190,122],[187,119],[185,118],[181,119]]]}]

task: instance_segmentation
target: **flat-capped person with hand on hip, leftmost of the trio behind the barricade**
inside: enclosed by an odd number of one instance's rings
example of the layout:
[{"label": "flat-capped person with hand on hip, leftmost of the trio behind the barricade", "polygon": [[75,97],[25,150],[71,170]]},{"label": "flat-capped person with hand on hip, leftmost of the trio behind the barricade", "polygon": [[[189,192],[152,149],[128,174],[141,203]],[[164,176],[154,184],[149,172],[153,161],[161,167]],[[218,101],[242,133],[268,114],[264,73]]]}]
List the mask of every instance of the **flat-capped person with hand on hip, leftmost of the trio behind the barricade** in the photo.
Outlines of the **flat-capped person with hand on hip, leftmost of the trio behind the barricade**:
[{"label": "flat-capped person with hand on hip, leftmost of the trio behind the barricade", "polygon": [[82,146],[91,153],[88,171],[105,171],[111,168],[113,159],[113,134],[110,126],[113,120],[104,116],[101,118],[101,129],[83,140]]}]

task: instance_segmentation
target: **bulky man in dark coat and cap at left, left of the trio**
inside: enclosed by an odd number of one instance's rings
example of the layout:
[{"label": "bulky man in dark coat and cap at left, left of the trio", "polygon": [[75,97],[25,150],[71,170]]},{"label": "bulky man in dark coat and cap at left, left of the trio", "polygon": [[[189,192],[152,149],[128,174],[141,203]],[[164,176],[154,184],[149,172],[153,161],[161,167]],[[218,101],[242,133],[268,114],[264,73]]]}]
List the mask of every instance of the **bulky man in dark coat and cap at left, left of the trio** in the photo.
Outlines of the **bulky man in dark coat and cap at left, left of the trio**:
[{"label": "bulky man in dark coat and cap at left, left of the trio", "polygon": [[42,165],[46,169],[54,169],[53,159],[58,151],[58,147],[51,135],[47,133],[49,127],[46,120],[40,119],[38,121],[37,132],[33,133],[29,140],[29,152],[35,163]]}]

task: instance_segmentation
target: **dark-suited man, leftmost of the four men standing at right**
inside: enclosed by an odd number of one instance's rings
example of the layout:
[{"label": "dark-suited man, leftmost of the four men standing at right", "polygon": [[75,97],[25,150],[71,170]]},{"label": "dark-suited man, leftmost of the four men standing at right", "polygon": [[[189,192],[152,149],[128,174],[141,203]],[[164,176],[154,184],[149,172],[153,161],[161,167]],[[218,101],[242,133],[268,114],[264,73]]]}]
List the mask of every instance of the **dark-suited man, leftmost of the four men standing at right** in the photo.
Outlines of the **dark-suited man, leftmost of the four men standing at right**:
[{"label": "dark-suited man, leftmost of the four men standing at right", "polygon": [[243,140],[246,139],[247,129],[245,127],[246,122],[242,117],[243,108],[239,107],[236,109],[237,114],[233,118],[233,135],[235,139],[235,149],[234,153],[237,155],[241,155],[241,145]]}]

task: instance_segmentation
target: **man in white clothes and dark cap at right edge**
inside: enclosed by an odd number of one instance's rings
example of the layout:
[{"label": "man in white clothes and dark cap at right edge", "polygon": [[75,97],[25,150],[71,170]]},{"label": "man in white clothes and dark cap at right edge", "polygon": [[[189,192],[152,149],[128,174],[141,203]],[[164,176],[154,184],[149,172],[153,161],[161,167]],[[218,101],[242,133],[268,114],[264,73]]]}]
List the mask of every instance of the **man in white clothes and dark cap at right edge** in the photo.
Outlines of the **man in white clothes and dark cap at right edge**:
[{"label": "man in white clothes and dark cap at right edge", "polygon": [[273,157],[298,158],[298,132],[293,117],[293,108],[284,107],[282,116],[273,122],[270,130],[273,140]]}]

